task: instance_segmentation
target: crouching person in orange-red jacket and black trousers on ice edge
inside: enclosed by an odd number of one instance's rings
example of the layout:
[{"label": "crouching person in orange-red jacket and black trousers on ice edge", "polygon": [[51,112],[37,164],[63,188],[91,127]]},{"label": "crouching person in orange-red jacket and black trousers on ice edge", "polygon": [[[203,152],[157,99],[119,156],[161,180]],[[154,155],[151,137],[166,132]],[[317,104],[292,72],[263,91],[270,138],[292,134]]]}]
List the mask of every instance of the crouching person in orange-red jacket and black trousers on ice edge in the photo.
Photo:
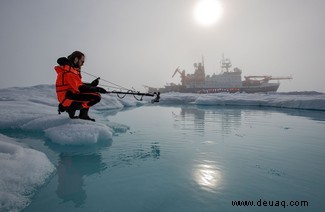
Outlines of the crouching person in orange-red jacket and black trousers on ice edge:
[{"label": "crouching person in orange-red jacket and black trousers on ice edge", "polygon": [[[71,119],[80,118],[95,121],[88,116],[89,108],[101,100],[99,93],[106,93],[104,88],[98,87],[99,78],[91,83],[81,81],[81,66],[85,62],[85,55],[75,51],[68,57],[60,57],[57,72],[56,94],[59,101],[59,114],[66,111]],[[80,110],[79,116],[75,116]]]}]

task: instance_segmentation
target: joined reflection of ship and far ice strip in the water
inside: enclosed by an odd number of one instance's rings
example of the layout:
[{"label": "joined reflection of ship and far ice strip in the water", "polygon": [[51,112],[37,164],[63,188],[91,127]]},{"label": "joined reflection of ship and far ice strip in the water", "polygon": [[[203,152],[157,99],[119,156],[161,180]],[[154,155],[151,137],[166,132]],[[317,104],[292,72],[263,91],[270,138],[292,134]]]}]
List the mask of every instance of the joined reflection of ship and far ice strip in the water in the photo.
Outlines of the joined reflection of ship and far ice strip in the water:
[{"label": "joined reflection of ship and far ice strip in the water", "polygon": [[229,135],[242,128],[242,125],[256,124],[258,117],[269,116],[263,123],[271,121],[274,114],[302,116],[311,120],[324,121],[324,111],[295,110],[285,108],[260,107],[212,107],[212,106],[182,106],[179,112],[173,112],[174,127],[185,131],[195,131],[203,135],[206,132],[216,132]]}]

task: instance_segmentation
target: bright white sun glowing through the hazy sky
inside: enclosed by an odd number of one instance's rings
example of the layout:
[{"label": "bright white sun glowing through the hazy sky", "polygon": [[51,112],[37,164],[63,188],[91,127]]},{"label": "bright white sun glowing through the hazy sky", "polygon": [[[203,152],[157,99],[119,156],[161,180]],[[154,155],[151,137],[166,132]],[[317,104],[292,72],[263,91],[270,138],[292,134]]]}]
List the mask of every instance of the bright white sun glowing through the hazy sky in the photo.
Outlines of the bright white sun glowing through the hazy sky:
[{"label": "bright white sun glowing through the hazy sky", "polygon": [[216,23],[222,15],[222,5],[218,0],[200,0],[194,7],[195,20],[204,26]]}]

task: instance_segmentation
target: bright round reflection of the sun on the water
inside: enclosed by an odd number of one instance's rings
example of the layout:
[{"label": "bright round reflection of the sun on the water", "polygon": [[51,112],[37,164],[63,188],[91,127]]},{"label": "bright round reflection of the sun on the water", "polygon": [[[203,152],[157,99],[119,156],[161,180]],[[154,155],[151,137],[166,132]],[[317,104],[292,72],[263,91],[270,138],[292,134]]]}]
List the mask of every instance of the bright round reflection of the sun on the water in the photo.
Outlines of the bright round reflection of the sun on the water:
[{"label": "bright round reflection of the sun on the water", "polygon": [[193,178],[204,190],[216,192],[221,185],[221,171],[213,161],[203,160],[194,167]]}]

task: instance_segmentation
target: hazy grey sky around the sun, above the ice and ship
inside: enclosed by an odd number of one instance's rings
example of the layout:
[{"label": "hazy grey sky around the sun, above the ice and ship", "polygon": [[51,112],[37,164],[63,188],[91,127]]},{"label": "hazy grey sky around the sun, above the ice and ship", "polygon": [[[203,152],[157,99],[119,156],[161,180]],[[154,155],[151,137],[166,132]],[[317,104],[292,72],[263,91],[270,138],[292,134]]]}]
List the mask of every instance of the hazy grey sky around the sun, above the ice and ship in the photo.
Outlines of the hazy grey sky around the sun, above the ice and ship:
[{"label": "hazy grey sky around the sun, above the ice and ship", "polygon": [[324,0],[220,0],[211,26],[198,1],[1,0],[0,88],[54,84],[57,58],[80,50],[84,71],[137,90],[178,83],[202,55],[219,73],[224,53],[242,76],[292,75],[279,91],[325,92]]}]

